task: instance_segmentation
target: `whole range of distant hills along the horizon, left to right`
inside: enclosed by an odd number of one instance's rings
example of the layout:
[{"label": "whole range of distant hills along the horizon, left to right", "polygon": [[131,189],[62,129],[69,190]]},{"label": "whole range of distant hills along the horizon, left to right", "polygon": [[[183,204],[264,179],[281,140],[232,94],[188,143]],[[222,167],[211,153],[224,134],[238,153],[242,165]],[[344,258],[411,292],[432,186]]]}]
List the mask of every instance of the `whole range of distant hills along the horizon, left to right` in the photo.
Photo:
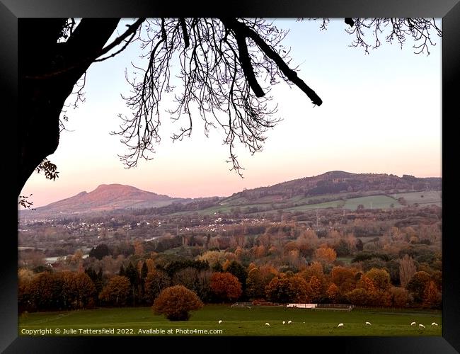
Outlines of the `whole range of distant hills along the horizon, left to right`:
[{"label": "whole range of distant hills along the horizon, left to right", "polygon": [[[146,192],[130,185],[99,185],[90,193],[81,192],[71,198],[52,202],[36,210],[21,210],[23,217],[58,216],[75,213],[108,212],[111,210],[156,209],[161,215],[175,212],[228,212],[231,207],[272,205],[277,208],[298,207],[332,200],[365,197],[367,195],[391,195],[396,203],[398,193],[442,190],[442,178],[398,177],[385,173],[349,173],[330,171],[318,176],[299,178],[268,187],[242,190],[228,198],[171,198]],[[423,198],[423,195],[420,195]],[[437,197],[438,198],[438,197]],[[388,199],[388,198],[387,198]],[[428,202],[429,198],[425,198]],[[422,200],[425,202],[425,200]],[[422,202],[421,200],[418,202]],[[432,201],[432,200],[431,200]],[[438,200],[435,200],[438,202]],[[387,203],[388,204],[388,203]],[[377,205],[377,201],[374,201]],[[151,210],[150,210],[151,212]]]}]

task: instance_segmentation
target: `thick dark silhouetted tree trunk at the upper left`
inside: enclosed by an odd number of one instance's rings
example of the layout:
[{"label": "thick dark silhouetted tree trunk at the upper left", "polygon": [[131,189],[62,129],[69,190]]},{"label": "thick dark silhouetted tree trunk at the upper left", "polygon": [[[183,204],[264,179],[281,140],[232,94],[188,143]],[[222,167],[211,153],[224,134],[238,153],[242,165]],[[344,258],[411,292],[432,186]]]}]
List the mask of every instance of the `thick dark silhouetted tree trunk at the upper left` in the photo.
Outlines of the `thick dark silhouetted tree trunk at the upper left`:
[{"label": "thick dark silhouetted tree trunk at the upper left", "polygon": [[18,20],[18,195],[59,144],[59,116],[74,85],[115,31],[120,18],[82,19],[58,43],[66,18]]}]

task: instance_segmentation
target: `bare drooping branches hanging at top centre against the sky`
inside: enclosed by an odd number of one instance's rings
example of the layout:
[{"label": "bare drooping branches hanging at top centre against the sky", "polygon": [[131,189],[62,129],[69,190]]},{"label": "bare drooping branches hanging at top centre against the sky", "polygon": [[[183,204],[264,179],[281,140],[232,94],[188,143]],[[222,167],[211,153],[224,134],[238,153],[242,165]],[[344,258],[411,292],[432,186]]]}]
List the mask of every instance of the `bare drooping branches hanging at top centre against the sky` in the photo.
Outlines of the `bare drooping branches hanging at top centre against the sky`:
[{"label": "bare drooping branches hanging at top centre against the sky", "polygon": [[175,64],[183,85],[175,92],[176,107],[168,113],[173,120],[181,115],[188,120],[172,138],[190,136],[192,116],[199,114],[206,135],[211,127],[224,129],[224,143],[229,144],[230,161],[238,173],[235,142],[257,152],[264,133],[280,121],[273,118],[276,108],[268,105],[270,85],[280,80],[297,85],[314,104],[322,103],[299,79],[296,68],[288,67],[289,50],[280,44],[287,32],[264,19],[159,18],[146,21],[144,30],[142,47],[149,62],[146,69],[136,67],[142,79],[130,81],[132,96],[125,97],[133,114],[122,118],[117,132],[130,149],[122,156],[127,166],[135,166],[139,157],[151,158],[149,153],[160,141],[159,103],[162,93],[174,89],[170,67]]}]

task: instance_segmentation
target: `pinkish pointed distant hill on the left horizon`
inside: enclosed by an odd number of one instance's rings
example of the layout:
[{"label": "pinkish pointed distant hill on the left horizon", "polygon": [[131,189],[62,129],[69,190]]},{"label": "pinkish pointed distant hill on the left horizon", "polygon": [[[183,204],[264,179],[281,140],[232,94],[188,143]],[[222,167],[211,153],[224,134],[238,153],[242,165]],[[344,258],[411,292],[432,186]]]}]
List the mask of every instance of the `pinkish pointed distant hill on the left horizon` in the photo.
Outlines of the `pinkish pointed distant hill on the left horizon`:
[{"label": "pinkish pointed distant hill on the left horizon", "polygon": [[182,200],[184,199],[146,192],[130,185],[101,184],[90,193],[84,191],[73,197],[38,207],[34,213],[35,215],[56,215],[124,208],[161,207]]}]

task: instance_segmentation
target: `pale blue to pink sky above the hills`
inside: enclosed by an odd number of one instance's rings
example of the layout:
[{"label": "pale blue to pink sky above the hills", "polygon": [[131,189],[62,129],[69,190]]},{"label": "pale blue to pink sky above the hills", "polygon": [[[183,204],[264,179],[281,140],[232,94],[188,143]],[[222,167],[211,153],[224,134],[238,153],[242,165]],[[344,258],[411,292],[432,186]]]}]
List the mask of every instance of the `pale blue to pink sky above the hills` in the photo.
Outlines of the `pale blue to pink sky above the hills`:
[{"label": "pale blue to pink sky above the hills", "polygon": [[[120,33],[126,20],[120,23]],[[226,160],[228,146],[222,130],[205,137],[200,117],[190,138],[172,142],[180,125],[161,120],[161,142],[154,159],[125,169],[118,154],[127,152],[120,137],[110,135],[130,110],[120,94],[130,86],[125,69],[139,63],[139,45],[104,62],[86,74],[85,102],[65,108],[69,117],[59,147],[48,159],[57,164],[59,178],[50,181],[34,173],[21,195],[33,207],[69,198],[100,184],[120,183],[171,197],[227,196],[327,171],[410,174],[439,177],[442,171],[442,42],[434,38],[430,55],[414,54],[413,41],[401,48],[382,41],[365,54],[351,47],[343,19],[331,20],[327,30],[318,21],[275,19],[289,29],[283,45],[291,47],[292,66],[323,100],[314,107],[296,87],[278,84],[271,91],[282,121],[266,133],[263,151],[251,155],[237,145],[243,177]],[[116,33],[114,34],[116,36]],[[109,40],[110,42],[110,40]],[[174,68],[171,68],[174,72]],[[68,102],[74,101],[69,97]],[[171,102],[161,102],[161,110]],[[187,119],[187,118],[185,118]],[[201,128],[201,129],[200,129]]]}]

